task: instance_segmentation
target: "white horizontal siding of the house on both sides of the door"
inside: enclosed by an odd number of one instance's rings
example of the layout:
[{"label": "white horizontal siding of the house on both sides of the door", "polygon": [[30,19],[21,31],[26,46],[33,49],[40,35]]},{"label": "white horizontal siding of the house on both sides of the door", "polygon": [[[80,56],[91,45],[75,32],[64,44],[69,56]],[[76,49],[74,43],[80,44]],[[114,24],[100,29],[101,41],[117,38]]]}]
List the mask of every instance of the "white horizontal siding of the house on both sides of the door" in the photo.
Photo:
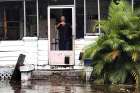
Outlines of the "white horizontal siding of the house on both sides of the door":
[{"label": "white horizontal siding of the house on both sides of the door", "polygon": [[[75,65],[82,65],[79,54],[88,44],[95,42],[97,37],[75,40]],[[0,66],[15,65],[19,54],[25,54],[25,64],[48,65],[48,40],[36,37],[24,37],[21,41],[0,42]]]}]

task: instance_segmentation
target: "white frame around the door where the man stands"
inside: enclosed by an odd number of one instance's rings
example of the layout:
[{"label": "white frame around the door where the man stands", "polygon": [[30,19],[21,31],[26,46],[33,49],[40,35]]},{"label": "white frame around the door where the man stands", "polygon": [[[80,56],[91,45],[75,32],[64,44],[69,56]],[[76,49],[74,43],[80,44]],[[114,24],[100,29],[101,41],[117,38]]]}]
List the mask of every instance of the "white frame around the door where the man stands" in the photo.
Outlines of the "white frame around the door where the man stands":
[{"label": "white frame around the door where the man stands", "polygon": [[[67,8],[71,8],[72,9],[72,50],[66,50],[66,51],[73,51],[73,57],[74,57],[74,61],[75,61],[75,36],[76,36],[76,20],[75,20],[75,7],[74,5],[50,5],[48,6],[48,56],[50,55],[50,53],[53,51],[59,52],[60,50],[51,50],[51,42],[50,42],[50,10],[51,9],[67,9]],[[51,62],[51,60],[49,59],[49,64]],[[75,65],[75,62],[74,64]]]}]

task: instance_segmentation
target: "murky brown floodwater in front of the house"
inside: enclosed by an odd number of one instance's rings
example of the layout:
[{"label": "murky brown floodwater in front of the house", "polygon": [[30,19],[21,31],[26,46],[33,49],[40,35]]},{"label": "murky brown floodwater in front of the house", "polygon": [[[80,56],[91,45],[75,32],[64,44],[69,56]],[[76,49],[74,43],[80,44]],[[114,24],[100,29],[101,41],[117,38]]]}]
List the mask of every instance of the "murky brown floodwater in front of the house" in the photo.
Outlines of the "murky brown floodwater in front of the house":
[{"label": "murky brown floodwater in front of the house", "polygon": [[[105,87],[78,81],[48,82],[33,80],[9,83],[0,81],[0,93],[134,93],[134,88]],[[140,92],[137,92],[140,93]]]}]

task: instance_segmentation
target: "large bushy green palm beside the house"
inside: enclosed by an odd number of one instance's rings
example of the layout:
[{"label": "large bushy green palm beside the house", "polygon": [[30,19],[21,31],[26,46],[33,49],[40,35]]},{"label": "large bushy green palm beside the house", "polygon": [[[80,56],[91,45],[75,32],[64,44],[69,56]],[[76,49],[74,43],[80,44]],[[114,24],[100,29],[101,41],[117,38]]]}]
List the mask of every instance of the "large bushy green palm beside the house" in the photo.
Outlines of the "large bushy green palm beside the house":
[{"label": "large bushy green palm beside the house", "polygon": [[128,75],[140,84],[140,17],[125,0],[111,2],[101,25],[102,35],[84,49],[92,59],[93,73],[112,83],[124,83]]}]

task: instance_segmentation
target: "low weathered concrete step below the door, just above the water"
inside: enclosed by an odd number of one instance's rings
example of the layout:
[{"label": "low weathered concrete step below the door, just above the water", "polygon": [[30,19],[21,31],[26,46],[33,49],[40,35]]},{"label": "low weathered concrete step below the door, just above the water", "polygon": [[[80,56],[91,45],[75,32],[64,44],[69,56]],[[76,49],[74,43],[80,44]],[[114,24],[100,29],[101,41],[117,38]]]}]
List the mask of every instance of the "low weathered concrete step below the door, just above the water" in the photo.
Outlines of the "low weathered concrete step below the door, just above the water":
[{"label": "low weathered concrete step below the door, just above the water", "polygon": [[35,70],[32,72],[32,79],[46,79],[51,80],[55,79],[74,79],[78,80],[81,77],[82,70]]}]

